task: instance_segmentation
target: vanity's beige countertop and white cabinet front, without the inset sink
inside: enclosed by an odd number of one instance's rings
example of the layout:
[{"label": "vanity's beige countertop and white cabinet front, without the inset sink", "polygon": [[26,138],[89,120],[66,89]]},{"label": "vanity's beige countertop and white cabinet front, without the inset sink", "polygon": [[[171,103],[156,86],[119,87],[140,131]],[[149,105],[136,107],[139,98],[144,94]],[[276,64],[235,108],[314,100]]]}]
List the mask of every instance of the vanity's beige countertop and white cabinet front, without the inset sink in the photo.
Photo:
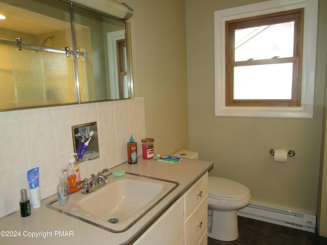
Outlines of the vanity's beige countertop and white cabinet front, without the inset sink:
[{"label": "vanity's beige countertop and white cabinet front, without the inset sink", "polygon": [[[58,237],[51,235],[45,238],[40,237],[39,232],[41,231],[47,234],[52,231],[74,232],[74,238],[62,237],[62,239],[65,243],[74,239],[76,244],[94,243],[94,239],[97,237],[97,243],[110,245],[206,245],[207,172],[213,165],[213,162],[188,158],[183,158],[176,164],[139,158],[137,164],[126,162],[111,168],[110,171],[125,170],[127,173],[151,176],[154,179],[169,180],[179,184],[126,231],[110,232],[97,225],[84,222],[84,220],[50,209],[48,204],[57,198],[57,193],[42,200],[41,207],[33,209],[32,214],[28,217],[21,218],[18,210],[1,217],[0,231],[19,231],[21,234],[36,232],[39,237],[33,239],[34,245],[58,244]],[[111,177],[113,178],[113,176]],[[111,181],[111,185],[114,184],[113,182]],[[145,183],[151,182],[146,181]],[[113,189],[115,187],[108,190]],[[101,192],[101,189],[97,191]],[[77,193],[73,195],[75,194]],[[90,200],[95,197],[90,194],[86,198]],[[96,199],[95,203],[97,203]],[[97,207],[96,205],[95,208]],[[26,239],[27,237],[23,235],[1,237],[0,244],[31,243],[26,242]]]}]

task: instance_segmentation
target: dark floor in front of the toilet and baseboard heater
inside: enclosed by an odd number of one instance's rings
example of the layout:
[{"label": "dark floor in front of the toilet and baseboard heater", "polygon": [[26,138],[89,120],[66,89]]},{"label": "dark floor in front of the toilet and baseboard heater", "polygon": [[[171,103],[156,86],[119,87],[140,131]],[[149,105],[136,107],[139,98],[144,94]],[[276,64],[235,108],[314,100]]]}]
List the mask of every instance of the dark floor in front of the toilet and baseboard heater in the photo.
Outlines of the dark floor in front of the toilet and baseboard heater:
[{"label": "dark floor in front of the toilet and baseboard heater", "polygon": [[316,245],[316,235],[285,226],[238,216],[239,238],[218,241],[208,237],[208,245]]}]

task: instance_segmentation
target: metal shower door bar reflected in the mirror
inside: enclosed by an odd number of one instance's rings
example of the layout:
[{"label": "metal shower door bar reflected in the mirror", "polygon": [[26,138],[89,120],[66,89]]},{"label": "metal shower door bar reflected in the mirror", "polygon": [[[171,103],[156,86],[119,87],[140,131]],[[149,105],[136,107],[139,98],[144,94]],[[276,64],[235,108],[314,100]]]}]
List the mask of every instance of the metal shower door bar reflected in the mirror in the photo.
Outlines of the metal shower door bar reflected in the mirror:
[{"label": "metal shower door bar reflected in the mirror", "polygon": [[[69,55],[73,55],[73,51],[69,51],[69,47],[65,47],[64,50],[62,50],[60,48],[54,48],[54,47],[44,47],[44,46],[34,45],[31,43],[23,43],[21,38],[17,38],[16,41],[11,41],[11,40],[0,38],[0,44],[17,46],[18,50],[27,48],[29,50],[48,51],[48,52],[53,52],[53,53],[66,54],[67,57],[69,57]],[[83,52],[80,52],[79,50],[77,52],[80,56],[84,56]]]}]

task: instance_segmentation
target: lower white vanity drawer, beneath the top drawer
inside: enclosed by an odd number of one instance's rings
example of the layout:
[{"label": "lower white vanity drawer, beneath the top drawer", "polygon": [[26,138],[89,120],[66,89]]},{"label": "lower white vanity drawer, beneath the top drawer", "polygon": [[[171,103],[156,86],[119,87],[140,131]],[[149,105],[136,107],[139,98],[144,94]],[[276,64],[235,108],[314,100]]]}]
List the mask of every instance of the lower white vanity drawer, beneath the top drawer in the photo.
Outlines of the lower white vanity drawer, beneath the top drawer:
[{"label": "lower white vanity drawer, beneath the top drawer", "polygon": [[208,225],[208,202],[207,195],[194,212],[185,220],[185,244],[198,244],[202,235],[207,231]]}]

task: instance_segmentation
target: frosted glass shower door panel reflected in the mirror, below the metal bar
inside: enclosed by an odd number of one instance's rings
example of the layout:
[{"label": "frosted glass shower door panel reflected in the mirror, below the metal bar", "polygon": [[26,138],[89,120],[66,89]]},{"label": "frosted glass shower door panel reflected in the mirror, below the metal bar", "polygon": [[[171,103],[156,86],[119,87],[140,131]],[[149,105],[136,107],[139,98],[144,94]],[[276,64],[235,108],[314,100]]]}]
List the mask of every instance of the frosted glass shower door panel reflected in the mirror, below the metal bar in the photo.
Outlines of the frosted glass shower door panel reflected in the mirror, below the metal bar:
[{"label": "frosted glass shower door panel reflected in the mirror, below the metal bar", "polygon": [[73,56],[6,45],[0,52],[0,109],[77,102]]}]

